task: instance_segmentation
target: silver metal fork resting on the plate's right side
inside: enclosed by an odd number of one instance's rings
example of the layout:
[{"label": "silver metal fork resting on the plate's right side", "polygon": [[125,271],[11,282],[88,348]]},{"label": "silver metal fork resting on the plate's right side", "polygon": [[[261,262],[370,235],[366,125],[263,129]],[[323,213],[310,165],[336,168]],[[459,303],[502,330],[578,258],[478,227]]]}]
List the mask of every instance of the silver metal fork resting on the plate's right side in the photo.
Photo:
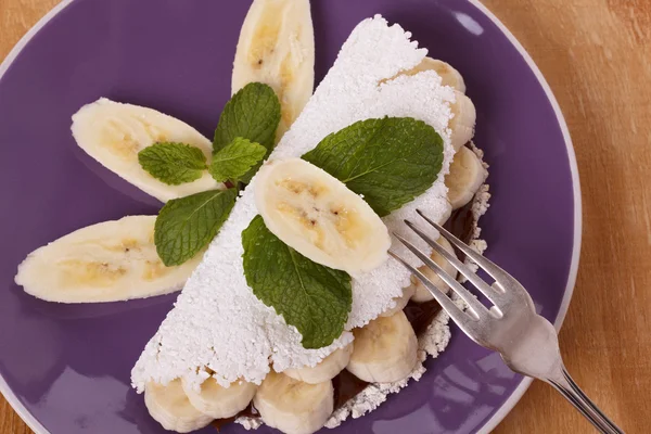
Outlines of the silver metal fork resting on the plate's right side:
[{"label": "silver metal fork resting on the plate's right side", "polygon": [[599,432],[607,434],[624,433],[599,410],[595,403],[572,380],[561,359],[556,329],[548,320],[536,314],[534,302],[524,286],[507,271],[483,255],[474,252],[470,246],[435,221],[432,221],[420,209],[417,209],[417,213],[427,224],[432,225],[442,237],[445,237],[452,245],[495,279],[495,283],[489,285],[455,255],[444,250],[423,229],[409,220],[405,220],[405,224],[411,230],[432,246],[434,251],[445,257],[493,303],[493,306],[487,308],[471,292],[457,282],[454,277],[445,272],[429,255],[419,251],[405,238],[394,233],[407,248],[436,272],[467,303],[467,311],[461,310],[444,291],[430,282],[422,272],[394,252],[390,252],[394,258],[423,282],[457,326],[477,344],[498,352],[511,370],[551,384]]}]

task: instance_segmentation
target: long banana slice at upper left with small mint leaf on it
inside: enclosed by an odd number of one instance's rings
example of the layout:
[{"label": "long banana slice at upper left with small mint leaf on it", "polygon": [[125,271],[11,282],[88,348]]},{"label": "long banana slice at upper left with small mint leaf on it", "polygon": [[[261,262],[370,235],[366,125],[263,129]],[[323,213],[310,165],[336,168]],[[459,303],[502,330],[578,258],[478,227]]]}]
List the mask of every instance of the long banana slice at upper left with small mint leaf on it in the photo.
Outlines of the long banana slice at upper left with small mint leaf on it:
[{"label": "long banana slice at upper left with small mint leaf on it", "polygon": [[193,182],[168,186],[138,163],[138,152],[155,142],[182,142],[200,148],[208,163],[213,145],[199,131],[163,113],[102,98],[73,116],[73,136],[79,148],[145,193],[162,202],[221,186],[206,171]]}]

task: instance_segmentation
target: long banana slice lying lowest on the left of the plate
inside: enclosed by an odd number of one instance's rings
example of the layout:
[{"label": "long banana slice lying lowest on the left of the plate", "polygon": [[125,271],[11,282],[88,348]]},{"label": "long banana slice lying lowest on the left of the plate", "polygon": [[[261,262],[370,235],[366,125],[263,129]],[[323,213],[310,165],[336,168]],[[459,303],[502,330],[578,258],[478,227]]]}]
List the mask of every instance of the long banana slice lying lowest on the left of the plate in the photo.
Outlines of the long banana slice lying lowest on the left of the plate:
[{"label": "long banana slice lying lowest on the left of the plate", "polygon": [[79,229],[37,248],[15,282],[48,302],[144,298],[181,289],[202,255],[165,267],[154,246],[155,216],[131,216]]}]

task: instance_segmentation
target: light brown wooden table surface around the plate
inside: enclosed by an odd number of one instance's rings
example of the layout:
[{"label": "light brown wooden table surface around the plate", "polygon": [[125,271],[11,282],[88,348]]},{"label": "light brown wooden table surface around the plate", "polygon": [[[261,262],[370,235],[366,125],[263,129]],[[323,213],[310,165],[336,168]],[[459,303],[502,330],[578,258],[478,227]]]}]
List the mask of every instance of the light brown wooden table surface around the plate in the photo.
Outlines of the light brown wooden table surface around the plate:
[{"label": "light brown wooden table surface around the plate", "polygon": [[[460,0],[461,1],[461,0]],[[56,0],[0,0],[0,59]],[[651,0],[485,0],[532,54],[567,119],[584,242],[561,332],[575,380],[628,433],[651,426]],[[0,433],[25,426],[0,396]],[[585,433],[534,383],[497,433]]]}]

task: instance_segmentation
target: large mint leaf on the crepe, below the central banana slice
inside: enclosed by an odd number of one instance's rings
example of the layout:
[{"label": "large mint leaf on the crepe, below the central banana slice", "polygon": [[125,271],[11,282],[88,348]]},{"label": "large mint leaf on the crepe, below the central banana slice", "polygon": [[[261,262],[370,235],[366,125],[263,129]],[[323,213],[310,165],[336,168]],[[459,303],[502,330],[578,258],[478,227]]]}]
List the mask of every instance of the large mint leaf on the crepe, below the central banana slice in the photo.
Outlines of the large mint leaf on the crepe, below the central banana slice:
[{"label": "large mint leaf on the crepe, below the central banana slice", "polygon": [[330,345],[353,304],[350,277],[314,263],[280,241],[256,216],[242,232],[244,276],[253,293],[303,335],[305,348]]}]

